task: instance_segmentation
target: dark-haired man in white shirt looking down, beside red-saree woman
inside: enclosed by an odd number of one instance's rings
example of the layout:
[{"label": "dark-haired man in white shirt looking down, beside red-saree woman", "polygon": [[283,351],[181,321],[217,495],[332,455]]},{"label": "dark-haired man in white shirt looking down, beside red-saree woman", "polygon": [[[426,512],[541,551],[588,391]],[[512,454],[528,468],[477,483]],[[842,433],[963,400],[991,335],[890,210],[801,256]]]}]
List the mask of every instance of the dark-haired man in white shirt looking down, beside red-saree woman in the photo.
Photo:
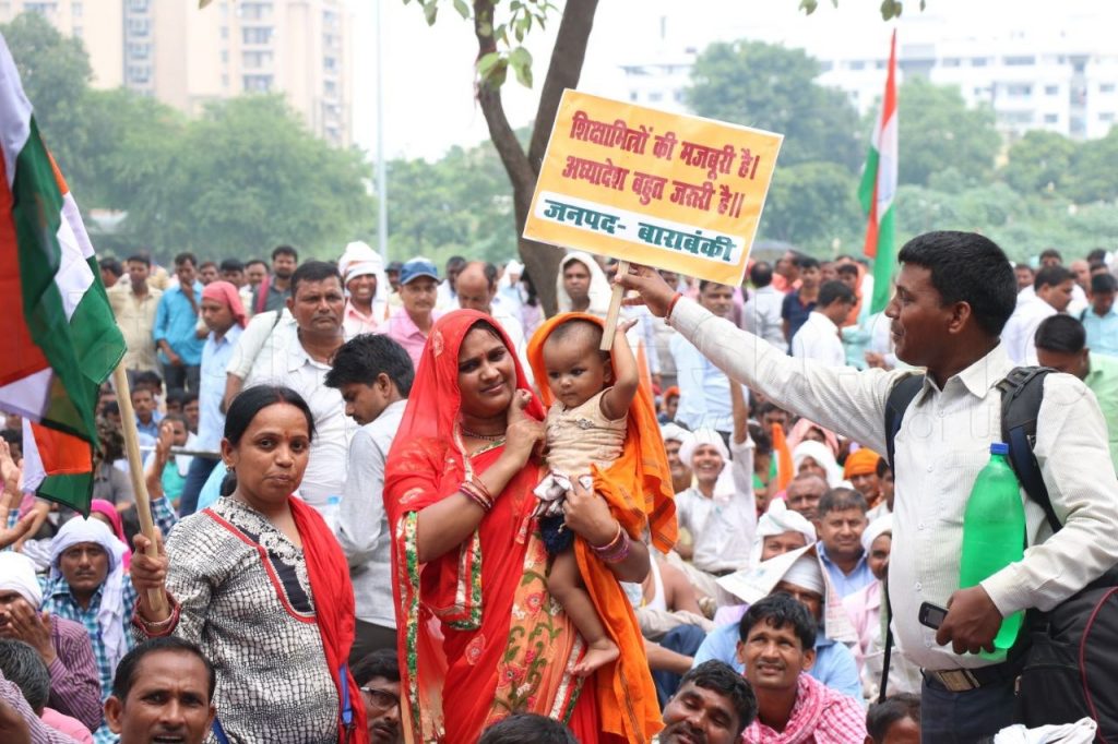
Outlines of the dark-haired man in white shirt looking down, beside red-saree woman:
[{"label": "dark-haired man in white shirt looking down, beside red-saree woman", "polygon": [[385,461],[404,418],[415,369],[386,335],[364,334],[334,354],[325,384],[345,401],[345,416],[361,428],[350,441],[345,486],[334,530],[345,553],[357,602],[350,664],[378,649],[396,649],[392,602],[392,533],[385,516]]}]

